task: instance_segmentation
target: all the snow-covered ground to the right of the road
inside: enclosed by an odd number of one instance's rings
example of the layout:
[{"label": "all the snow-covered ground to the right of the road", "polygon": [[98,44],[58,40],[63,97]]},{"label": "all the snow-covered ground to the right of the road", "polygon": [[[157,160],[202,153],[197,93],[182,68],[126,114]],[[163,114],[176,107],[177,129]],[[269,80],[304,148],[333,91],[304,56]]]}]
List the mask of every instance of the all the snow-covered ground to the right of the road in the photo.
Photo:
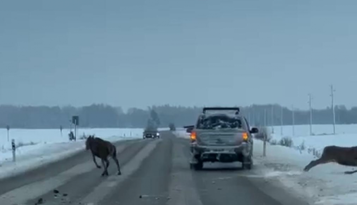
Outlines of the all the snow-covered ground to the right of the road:
[{"label": "all the snow-covered ground to the right of the road", "polygon": [[[353,170],[336,163],[328,163],[313,167],[309,172],[302,171],[316,156],[309,152],[315,148],[318,152],[328,145],[357,146],[357,125],[337,125],[336,135],[331,135],[331,125],[313,125],[313,133],[309,136],[308,125],[295,126],[292,137],[292,126],[274,127],[272,138],[280,140],[291,137],[294,147],[267,144],[266,157],[262,157],[263,142],[254,142],[254,170],[251,177],[262,177],[272,183],[278,182],[294,193],[310,199],[313,204],[352,205],[357,204],[357,178],[346,175],[345,171]],[[177,136],[189,137],[185,130],[178,130]],[[296,146],[305,144],[304,150]]]}]

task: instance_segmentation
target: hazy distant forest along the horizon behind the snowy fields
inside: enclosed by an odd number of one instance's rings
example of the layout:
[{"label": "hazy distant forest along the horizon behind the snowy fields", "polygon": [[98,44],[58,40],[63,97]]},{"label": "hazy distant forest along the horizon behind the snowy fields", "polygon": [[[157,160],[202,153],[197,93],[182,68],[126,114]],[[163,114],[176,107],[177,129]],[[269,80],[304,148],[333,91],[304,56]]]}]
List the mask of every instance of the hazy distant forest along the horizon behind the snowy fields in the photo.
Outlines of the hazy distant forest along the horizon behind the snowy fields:
[{"label": "hazy distant forest along the horizon behind the snowy fields", "polygon": [[[112,107],[105,104],[92,104],[84,107],[47,107],[47,106],[0,106],[0,127],[5,128],[68,128],[73,115],[78,115],[80,127],[91,128],[143,128],[152,112],[159,117],[159,126],[168,127],[174,123],[176,127],[192,125],[197,115],[201,113],[201,107],[177,107],[170,105],[152,106],[147,109],[130,108],[123,112],[120,107]],[[281,112],[283,113],[283,125],[292,125],[292,111],[278,104],[252,105],[241,107],[251,125],[271,126],[281,124]],[[310,122],[310,112],[307,110],[295,110],[295,124],[302,125]],[[332,109],[313,109],[313,124],[331,124]],[[345,106],[336,106],[336,123],[357,123],[357,107],[346,109]],[[264,118],[265,116],[265,118]]]}]

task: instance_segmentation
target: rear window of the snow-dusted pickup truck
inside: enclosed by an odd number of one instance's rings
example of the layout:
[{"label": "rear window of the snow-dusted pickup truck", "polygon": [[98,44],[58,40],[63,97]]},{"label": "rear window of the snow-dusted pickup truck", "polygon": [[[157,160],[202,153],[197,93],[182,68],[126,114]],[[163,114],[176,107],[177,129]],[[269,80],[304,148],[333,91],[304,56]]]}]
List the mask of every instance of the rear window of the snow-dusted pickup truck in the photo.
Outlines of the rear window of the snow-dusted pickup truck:
[{"label": "rear window of the snow-dusted pickup truck", "polygon": [[222,129],[222,128],[238,128],[242,129],[242,121],[240,118],[231,117],[225,114],[217,114],[211,116],[201,116],[197,123],[197,129]]}]

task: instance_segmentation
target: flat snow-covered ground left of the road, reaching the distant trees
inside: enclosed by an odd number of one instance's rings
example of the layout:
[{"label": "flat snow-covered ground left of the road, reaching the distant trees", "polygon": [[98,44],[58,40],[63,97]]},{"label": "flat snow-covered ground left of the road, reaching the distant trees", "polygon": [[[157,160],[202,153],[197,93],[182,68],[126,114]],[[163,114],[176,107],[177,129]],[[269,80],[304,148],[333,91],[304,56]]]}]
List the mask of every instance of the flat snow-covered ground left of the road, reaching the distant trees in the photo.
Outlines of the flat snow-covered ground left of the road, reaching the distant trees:
[{"label": "flat snow-covered ground left of the road, reaching the distant trees", "polygon": [[[109,141],[141,138],[140,128],[80,128],[78,137],[95,135]],[[0,129],[0,178],[33,169],[45,163],[60,160],[85,148],[84,141],[70,142],[69,130]],[[11,139],[15,139],[16,162],[12,162]]]}]

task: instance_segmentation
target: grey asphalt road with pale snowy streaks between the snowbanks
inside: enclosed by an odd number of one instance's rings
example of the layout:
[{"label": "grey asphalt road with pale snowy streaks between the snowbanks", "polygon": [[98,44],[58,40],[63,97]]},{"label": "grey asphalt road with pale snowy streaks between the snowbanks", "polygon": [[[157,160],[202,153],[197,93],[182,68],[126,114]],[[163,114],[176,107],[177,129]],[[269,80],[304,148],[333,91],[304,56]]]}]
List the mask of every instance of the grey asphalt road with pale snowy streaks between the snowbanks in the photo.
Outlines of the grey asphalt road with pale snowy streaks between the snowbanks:
[{"label": "grey asphalt road with pale snowy streaks between the snowbanks", "polygon": [[[240,165],[205,164],[190,170],[188,141],[171,132],[161,139],[116,143],[122,175],[109,176],[83,151],[0,181],[0,204],[73,205],[303,205],[297,196]],[[99,160],[98,160],[99,161]]]}]

